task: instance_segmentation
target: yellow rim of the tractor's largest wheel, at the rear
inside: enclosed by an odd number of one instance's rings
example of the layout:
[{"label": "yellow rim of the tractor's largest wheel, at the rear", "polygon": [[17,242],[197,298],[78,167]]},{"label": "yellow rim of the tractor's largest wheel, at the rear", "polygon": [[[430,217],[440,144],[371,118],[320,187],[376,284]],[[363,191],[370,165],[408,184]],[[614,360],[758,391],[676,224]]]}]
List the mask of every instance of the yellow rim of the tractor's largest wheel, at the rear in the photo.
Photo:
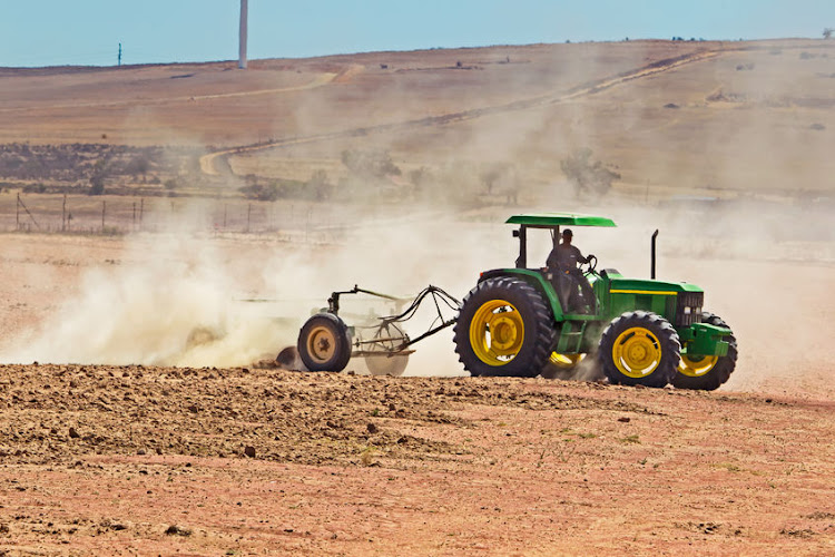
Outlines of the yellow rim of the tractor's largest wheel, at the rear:
[{"label": "yellow rim of the tractor's largest wheel, at the rear", "polygon": [[524,322],[519,310],[504,300],[491,300],[475,311],[470,322],[470,345],[488,365],[505,365],[524,342]]}]

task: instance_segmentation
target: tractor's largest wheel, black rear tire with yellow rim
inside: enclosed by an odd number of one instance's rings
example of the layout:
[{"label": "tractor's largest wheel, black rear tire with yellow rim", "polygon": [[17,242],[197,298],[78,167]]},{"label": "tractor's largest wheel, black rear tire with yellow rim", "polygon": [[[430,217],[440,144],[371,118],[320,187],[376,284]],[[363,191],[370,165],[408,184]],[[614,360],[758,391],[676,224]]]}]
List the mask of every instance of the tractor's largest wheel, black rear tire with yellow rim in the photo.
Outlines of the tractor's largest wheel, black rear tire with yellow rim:
[{"label": "tractor's largest wheel, black rear tire with yellow rim", "polygon": [[[453,333],[464,369],[472,375],[490,377],[539,375],[557,338],[553,315],[542,295],[510,276],[488,278],[471,290]],[[473,346],[473,342],[481,344]],[[497,348],[499,344],[503,345]]]}]

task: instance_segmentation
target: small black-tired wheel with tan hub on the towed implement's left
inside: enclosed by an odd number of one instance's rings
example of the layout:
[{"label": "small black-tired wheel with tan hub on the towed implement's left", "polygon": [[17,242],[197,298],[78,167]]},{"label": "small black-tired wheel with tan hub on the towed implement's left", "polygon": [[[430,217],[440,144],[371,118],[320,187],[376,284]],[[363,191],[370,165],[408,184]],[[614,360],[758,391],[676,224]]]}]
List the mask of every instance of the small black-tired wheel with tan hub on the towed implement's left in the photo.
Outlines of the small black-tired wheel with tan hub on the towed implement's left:
[{"label": "small black-tired wheel with tan hub on the towed implement's left", "polygon": [[317,313],[298,333],[298,355],[311,371],[342,371],[351,360],[345,323],[333,313]]}]

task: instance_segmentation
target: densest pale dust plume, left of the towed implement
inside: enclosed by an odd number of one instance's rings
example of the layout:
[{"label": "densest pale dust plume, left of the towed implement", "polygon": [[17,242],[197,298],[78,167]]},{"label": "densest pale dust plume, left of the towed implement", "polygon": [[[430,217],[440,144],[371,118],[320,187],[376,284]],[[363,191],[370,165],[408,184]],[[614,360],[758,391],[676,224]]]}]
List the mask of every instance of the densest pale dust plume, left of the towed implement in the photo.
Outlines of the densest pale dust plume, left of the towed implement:
[{"label": "densest pale dust plume, left of the towed implement", "polygon": [[78,295],[7,362],[232,365],[275,334],[234,311],[232,275],[206,242],[175,234],[128,241],[122,264],[94,267]]}]

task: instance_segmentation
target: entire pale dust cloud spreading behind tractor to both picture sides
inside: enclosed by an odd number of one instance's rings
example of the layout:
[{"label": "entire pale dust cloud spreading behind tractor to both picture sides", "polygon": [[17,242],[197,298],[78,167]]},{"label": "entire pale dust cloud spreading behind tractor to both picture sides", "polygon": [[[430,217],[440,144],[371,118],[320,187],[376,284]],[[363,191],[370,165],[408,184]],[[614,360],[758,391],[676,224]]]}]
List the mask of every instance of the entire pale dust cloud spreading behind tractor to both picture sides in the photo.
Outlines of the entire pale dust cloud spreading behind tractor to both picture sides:
[{"label": "entire pale dust cloud spreading behind tractor to both picture sides", "polygon": [[[356,284],[411,297],[434,284],[462,299],[481,271],[512,266],[518,244],[503,221],[517,212],[546,209],[612,216],[618,228],[578,228],[574,240],[583,253],[598,256],[601,267],[627,276],[649,276],[649,236],[660,228],[658,278],[705,289],[706,309],[725,319],[738,339],[740,359],[727,388],[774,390],[782,381],[796,387],[803,380],[813,389],[815,378],[833,371],[827,352],[835,304],[828,291],[835,257],[827,252],[828,238],[814,237],[825,228],[818,228],[822,223],[807,218],[805,238],[796,233],[783,241],[785,231],[757,225],[762,207],[733,206],[737,233],[727,234],[721,227],[706,229],[706,213],[692,207],[622,199],[466,214],[415,207],[397,218],[380,207],[343,207],[338,232],[325,242],[207,235],[198,225],[128,236],[120,264],[86,271],[78,295],[46,316],[37,332],[8,343],[16,349],[0,359],[188,367],[272,360],[295,344],[302,323],[336,290]],[[206,216],[195,212],[191,219],[204,223]],[[547,234],[531,234],[531,266],[544,261],[549,243]],[[364,296],[343,297],[345,315],[372,307],[377,315],[394,312]],[[425,304],[404,330],[414,338],[435,316]],[[414,348],[406,374],[464,373],[451,329]],[[586,368],[583,377],[595,377]],[[348,370],[365,372],[365,367],[352,360]]]}]

